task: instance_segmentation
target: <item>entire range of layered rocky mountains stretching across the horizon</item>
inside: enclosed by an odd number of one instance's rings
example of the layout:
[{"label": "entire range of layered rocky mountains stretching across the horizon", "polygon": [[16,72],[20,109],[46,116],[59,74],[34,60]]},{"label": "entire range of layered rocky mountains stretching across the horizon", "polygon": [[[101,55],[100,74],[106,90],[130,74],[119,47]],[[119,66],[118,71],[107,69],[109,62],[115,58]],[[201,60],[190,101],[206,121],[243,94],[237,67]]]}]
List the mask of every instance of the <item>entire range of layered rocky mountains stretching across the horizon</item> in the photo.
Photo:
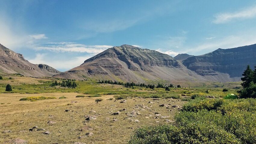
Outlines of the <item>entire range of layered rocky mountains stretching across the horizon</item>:
[{"label": "entire range of layered rocky mountains stretching across the horizon", "polygon": [[152,82],[240,81],[247,65],[256,66],[256,44],[238,48],[217,49],[193,56],[171,57],[158,51],[130,45],[114,46],[85,60],[66,72],[44,64],[32,64],[21,54],[0,44],[0,72],[25,76],[85,80]]}]

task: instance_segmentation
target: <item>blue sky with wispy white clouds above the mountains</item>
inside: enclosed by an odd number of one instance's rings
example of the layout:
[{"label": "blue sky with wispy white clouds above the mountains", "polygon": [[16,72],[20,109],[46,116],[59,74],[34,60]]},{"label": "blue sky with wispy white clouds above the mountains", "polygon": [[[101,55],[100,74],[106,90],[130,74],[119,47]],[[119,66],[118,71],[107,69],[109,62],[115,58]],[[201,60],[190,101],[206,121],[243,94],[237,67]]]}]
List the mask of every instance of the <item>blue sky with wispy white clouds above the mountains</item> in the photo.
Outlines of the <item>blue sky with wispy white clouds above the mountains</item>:
[{"label": "blue sky with wispy white clouds above the mountains", "polygon": [[0,43],[60,71],[123,44],[171,56],[256,43],[256,1],[0,0]]}]

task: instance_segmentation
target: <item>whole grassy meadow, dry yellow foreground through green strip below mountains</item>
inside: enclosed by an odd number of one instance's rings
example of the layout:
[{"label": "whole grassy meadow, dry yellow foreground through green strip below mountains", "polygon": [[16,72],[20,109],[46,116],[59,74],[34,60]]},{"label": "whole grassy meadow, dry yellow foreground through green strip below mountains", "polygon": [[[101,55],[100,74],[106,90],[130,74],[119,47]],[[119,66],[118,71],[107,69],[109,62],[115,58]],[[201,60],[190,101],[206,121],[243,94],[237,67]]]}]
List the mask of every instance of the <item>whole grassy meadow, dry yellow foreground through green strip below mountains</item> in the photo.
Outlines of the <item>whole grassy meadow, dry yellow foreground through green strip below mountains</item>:
[{"label": "whole grassy meadow, dry yellow foreground through green strip below mountains", "polygon": [[[178,107],[172,106],[183,106],[187,102],[184,98],[189,100],[194,93],[200,96],[224,97],[228,93],[236,94],[232,87],[239,86],[239,83],[218,83],[218,87],[215,83],[204,83],[165,91],[163,88],[132,89],[120,85],[97,84],[96,81],[89,80],[76,81],[78,87],[72,89],[51,87],[55,80],[14,75],[4,76],[4,80],[0,80],[0,143],[15,138],[26,140],[29,144],[127,143],[136,128],[172,123],[178,111]],[[5,92],[6,84],[11,84],[12,92]],[[223,88],[228,88],[229,91],[222,92]],[[205,93],[206,90],[209,93]],[[85,97],[76,97],[81,95]],[[179,95],[180,98],[170,98],[173,95]],[[20,101],[20,98],[40,96],[56,99]],[[66,98],[60,98],[62,96]],[[120,103],[123,99],[115,100],[120,96],[127,97],[126,101]],[[159,98],[154,100],[155,98],[149,97]],[[96,103],[97,98],[103,101]],[[110,98],[113,100],[109,100]],[[164,104],[164,107],[160,107],[160,104]],[[118,111],[118,115],[112,115]],[[131,117],[132,112],[136,116]],[[157,115],[158,113],[163,117]],[[93,119],[87,121],[88,116]],[[44,130],[29,130],[35,126]],[[11,133],[2,133],[6,130],[11,130]],[[46,131],[51,134],[43,134]],[[93,134],[86,136],[86,133]]]}]

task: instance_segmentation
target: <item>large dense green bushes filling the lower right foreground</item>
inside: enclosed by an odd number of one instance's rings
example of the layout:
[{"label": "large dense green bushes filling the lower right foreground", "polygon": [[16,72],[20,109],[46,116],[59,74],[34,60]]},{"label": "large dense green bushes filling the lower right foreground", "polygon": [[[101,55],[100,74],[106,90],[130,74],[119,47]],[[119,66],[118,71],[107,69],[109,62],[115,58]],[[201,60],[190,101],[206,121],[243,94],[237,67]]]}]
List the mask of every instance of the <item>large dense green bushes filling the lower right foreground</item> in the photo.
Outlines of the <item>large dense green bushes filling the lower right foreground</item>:
[{"label": "large dense green bushes filling the lower right foreground", "polygon": [[256,100],[192,100],[174,117],[175,125],[135,130],[128,144],[253,144],[256,142]]}]

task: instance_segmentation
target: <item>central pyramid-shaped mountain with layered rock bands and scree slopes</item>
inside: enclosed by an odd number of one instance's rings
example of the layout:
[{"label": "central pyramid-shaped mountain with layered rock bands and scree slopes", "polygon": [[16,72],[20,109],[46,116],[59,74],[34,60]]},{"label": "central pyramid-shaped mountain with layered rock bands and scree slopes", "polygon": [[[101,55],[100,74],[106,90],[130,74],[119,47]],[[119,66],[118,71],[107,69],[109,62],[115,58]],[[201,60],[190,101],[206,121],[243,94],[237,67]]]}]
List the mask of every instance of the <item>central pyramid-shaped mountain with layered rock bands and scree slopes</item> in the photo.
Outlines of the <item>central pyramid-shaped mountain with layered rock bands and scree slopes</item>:
[{"label": "central pyramid-shaped mountain with layered rock bands and scree slopes", "polygon": [[173,57],[130,45],[114,46],[54,78],[117,80],[130,82],[205,81]]}]

